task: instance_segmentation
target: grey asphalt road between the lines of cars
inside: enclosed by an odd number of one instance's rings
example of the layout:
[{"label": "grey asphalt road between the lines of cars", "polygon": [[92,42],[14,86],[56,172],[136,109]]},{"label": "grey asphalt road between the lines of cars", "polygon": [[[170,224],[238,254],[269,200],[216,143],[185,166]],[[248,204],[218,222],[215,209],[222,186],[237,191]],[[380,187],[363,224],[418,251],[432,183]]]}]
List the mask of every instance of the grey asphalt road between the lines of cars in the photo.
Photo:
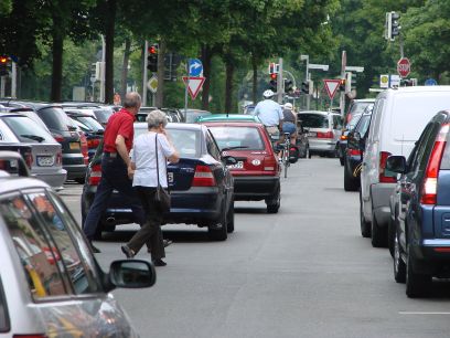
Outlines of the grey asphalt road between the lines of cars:
[{"label": "grey asphalt road between the lines of cars", "polygon": [[[360,233],[358,194],[338,159],[303,159],[282,179],[281,208],[236,202],[235,232],[208,242],[193,225],[164,225],[168,266],[148,289],[117,289],[141,337],[450,337],[450,283],[408,299],[387,249]],[[79,215],[81,186],[61,192]],[[136,225],[105,241],[104,268],[124,258]],[[149,260],[142,251],[137,256]]]}]

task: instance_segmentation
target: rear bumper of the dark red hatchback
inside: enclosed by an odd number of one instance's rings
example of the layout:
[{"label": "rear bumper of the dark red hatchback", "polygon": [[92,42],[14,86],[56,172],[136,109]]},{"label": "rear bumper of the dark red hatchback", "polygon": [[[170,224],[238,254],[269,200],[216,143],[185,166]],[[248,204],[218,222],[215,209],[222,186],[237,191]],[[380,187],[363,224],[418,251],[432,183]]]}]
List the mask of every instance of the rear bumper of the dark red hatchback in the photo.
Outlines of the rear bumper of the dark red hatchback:
[{"label": "rear bumper of the dark red hatchback", "polygon": [[278,189],[278,176],[246,176],[234,177],[235,201],[260,201],[271,197]]}]

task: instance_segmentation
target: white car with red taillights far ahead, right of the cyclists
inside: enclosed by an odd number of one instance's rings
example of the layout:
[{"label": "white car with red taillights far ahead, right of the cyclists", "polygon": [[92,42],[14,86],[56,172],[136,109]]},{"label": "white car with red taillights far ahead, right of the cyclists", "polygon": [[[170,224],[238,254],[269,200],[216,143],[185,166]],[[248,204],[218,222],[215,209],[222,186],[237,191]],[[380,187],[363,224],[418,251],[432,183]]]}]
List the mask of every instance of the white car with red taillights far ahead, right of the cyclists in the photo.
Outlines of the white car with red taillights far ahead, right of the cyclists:
[{"label": "white car with red taillights far ahead, right of the cyclists", "polygon": [[342,117],[336,113],[306,110],[297,114],[303,128],[308,129],[309,156],[335,157],[342,133]]}]

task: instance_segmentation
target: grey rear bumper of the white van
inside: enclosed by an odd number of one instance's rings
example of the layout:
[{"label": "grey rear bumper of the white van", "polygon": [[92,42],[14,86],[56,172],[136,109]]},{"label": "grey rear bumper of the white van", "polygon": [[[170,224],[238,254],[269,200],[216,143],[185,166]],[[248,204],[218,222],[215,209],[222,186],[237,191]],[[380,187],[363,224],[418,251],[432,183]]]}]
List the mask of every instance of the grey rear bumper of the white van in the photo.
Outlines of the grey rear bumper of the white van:
[{"label": "grey rear bumper of the white van", "polygon": [[371,186],[372,210],[381,228],[387,226],[390,219],[390,194],[395,189],[395,183],[375,183]]}]

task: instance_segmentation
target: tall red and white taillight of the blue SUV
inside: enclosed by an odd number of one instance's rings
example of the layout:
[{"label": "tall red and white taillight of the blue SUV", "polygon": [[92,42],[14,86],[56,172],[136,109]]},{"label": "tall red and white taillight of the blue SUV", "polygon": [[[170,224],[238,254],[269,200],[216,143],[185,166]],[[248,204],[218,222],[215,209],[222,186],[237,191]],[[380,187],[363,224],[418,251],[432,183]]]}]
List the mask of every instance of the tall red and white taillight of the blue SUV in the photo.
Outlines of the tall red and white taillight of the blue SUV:
[{"label": "tall red and white taillight of the blue SUV", "polygon": [[447,134],[450,125],[442,125],[432,147],[430,159],[428,160],[427,170],[425,171],[425,180],[421,190],[421,204],[436,204],[438,192],[438,175],[440,162],[442,160],[443,149],[446,149]]}]

